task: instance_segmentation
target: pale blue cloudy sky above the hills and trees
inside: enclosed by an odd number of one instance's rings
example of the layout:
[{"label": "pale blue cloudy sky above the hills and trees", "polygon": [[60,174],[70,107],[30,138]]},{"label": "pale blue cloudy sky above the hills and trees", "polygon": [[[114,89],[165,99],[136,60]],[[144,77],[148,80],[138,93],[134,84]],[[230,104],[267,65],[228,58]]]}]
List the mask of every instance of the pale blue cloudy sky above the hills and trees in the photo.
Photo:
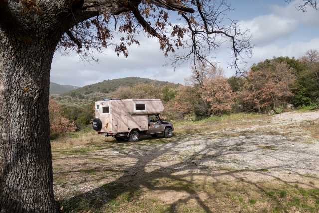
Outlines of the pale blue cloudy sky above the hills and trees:
[{"label": "pale blue cloudy sky above the hills and trees", "polygon": [[[247,66],[267,58],[289,56],[299,58],[309,49],[319,50],[319,11],[308,8],[307,12],[297,10],[302,0],[228,0],[234,11],[228,17],[238,20],[241,28],[250,30],[253,55],[245,58]],[[171,14],[171,17],[176,17]],[[174,20],[172,21],[174,22]],[[116,36],[115,36],[116,37]],[[132,45],[129,56],[118,57],[114,48],[93,53],[98,62],[81,61],[76,53],[61,55],[55,53],[51,81],[58,84],[84,86],[107,79],[143,77],[160,81],[184,83],[191,74],[189,64],[176,69],[165,66],[169,58],[160,51],[155,38],[140,35],[140,46]],[[227,77],[235,74],[229,67],[231,50],[226,46],[217,49],[214,57],[225,70]]]}]

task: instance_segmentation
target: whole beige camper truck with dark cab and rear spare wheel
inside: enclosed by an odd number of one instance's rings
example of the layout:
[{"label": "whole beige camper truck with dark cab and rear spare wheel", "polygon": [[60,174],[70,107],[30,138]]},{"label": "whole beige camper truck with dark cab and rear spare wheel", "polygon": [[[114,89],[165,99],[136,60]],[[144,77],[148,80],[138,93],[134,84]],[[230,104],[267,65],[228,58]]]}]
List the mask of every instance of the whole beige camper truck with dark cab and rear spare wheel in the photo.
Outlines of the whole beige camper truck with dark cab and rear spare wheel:
[{"label": "whole beige camper truck with dark cab and rear spare wheel", "polygon": [[117,141],[138,141],[141,135],[173,136],[173,124],[160,119],[160,99],[105,99],[95,102],[93,129]]}]

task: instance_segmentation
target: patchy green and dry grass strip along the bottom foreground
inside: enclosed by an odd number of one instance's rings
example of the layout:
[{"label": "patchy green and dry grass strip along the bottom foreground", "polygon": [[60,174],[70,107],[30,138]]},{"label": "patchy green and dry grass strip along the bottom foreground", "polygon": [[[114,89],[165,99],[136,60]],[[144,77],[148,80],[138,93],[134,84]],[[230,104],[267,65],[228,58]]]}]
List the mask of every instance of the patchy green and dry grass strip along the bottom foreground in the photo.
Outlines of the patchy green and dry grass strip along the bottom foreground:
[{"label": "patchy green and dry grass strip along the bottom foreground", "polygon": [[[242,212],[273,212],[288,213],[292,211],[317,213],[319,211],[319,190],[303,189],[284,184],[247,185],[241,182],[200,182],[157,178],[148,184],[155,188],[174,189],[175,192],[204,192],[212,195],[202,201],[206,208],[213,208],[216,212],[231,211],[231,208]],[[170,203],[163,203],[151,189],[145,191],[135,185],[123,183],[109,183],[102,186],[105,195],[91,195],[93,197],[77,198],[60,202],[64,212],[92,211],[94,213],[168,213],[168,212],[207,212],[197,202],[178,202],[172,211]],[[265,193],[264,190],[270,189]],[[146,194],[145,194],[146,193]],[[94,197],[97,196],[97,197]],[[195,196],[197,198],[197,196]],[[257,199],[258,198],[258,199]],[[220,203],[219,203],[220,202]],[[173,202],[171,202],[173,203]],[[226,206],[223,206],[226,205]],[[266,205],[266,207],[265,207]],[[225,209],[229,208],[229,209]],[[212,209],[211,209],[212,210]]]}]

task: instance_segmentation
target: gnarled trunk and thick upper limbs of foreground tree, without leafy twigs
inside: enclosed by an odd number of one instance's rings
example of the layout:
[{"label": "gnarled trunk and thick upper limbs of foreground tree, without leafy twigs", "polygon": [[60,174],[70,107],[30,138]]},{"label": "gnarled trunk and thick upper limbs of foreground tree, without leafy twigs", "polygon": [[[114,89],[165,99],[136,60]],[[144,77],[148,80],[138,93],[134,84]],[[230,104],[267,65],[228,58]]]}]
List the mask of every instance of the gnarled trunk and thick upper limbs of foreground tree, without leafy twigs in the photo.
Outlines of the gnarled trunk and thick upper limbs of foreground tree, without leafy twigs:
[{"label": "gnarled trunk and thick upper limbs of foreground tree, without leafy twigs", "polygon": [[[150,2],[193,12],[178,1]],[[48,112],[55,48],[64,32],[101,12],[120,14],[133,9],[139,23],[154,34],[136,8],[139,3],[141,0],[0,0],[0,213],[58,211]]]}]

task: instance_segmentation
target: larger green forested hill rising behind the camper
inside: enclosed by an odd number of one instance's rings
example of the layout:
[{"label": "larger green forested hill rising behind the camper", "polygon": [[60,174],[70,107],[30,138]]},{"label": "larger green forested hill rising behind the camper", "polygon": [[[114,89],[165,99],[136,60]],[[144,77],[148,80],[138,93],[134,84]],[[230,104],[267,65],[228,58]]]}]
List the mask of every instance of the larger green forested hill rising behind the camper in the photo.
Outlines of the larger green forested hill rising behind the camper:
[{"label": "larger green forested hill rising behind the camper", "polygon": [[119,78],[113,80],[104,80],[102,82],[87,85],[76,90],[65,93],[65,95],[87,95],[90,93],[110,93],[115,91],[119,87],[132,87],[136,84],[155,84],[159,86],[177,86],[177,84],[169,83],[167,81],[157,81],[148,78],[139,78],[139,77],[127,77],[127,78]]}]

